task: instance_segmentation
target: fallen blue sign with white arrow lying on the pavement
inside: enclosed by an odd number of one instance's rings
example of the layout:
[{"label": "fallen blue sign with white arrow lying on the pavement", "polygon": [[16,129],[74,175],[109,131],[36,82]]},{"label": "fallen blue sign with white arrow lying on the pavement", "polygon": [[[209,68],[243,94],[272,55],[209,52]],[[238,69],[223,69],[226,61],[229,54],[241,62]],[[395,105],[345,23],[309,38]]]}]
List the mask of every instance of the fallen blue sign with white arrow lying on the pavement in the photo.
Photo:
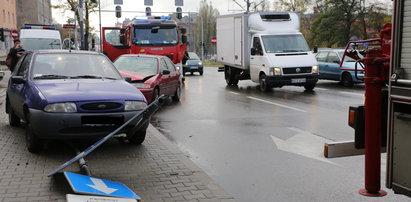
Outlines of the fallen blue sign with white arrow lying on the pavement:
[{"label": "fallen blue sign with white arrow lying on the pavement", "polygon": [[137,194],[122,183],[70,172],[64,172],[64,175],[66,176],[74,193],[116,196],[141,200]]}]

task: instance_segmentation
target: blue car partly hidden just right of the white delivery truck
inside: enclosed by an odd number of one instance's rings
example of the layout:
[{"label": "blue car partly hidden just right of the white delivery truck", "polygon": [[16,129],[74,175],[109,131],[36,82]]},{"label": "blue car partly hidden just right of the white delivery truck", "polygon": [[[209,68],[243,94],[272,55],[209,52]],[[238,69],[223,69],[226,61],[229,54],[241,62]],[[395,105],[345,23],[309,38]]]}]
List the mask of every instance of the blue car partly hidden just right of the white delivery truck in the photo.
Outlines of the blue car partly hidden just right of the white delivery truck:
[{"label": "blue car partly hidden just right of the white delivery truck", "polygon": [[[357,63],[356,71],[356,61],[353,58],[346,56],[342,68],[340,68],[340,61],[342,60],[343,54],[344,49],[319,50],[315,56],[320,68],[319,78],[340,81],[340,83],[346,87],[351,87],[354,83],[362,83],[364,69],[361,67],[361,64]],[[357,76],[355,76],[356,72]]]}]

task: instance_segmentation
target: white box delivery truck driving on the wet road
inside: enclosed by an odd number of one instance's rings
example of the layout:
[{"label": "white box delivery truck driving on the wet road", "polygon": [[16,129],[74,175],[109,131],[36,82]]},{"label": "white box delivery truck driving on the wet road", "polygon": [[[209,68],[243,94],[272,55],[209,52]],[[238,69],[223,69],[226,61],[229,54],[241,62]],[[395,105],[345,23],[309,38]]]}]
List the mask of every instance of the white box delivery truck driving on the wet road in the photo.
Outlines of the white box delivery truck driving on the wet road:
[{"label": "white box delivery truck driving on the wet road", "polygon": [[262,91],[284,85],[312,90],[318,81],[317,60],[293,12],[219,16],[217,61],[224,64],[228,85],[251,79]]}]

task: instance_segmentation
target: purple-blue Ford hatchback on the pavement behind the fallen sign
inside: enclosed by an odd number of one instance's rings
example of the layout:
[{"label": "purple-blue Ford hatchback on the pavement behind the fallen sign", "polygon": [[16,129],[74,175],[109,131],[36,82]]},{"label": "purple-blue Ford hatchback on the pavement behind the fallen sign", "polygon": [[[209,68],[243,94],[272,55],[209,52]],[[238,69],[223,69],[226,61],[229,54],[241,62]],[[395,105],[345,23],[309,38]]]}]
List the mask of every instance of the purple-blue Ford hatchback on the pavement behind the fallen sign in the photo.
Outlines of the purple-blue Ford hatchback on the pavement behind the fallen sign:
[{"label": "purple-blue Ford hatchback on the pavement behind the fallen sign", "polygon": [[[27,149],[39,152],[44,139],[101,137],[147,107],[143,94],[123,80],[106,56],[85,51],[26,52],[9,80],[6,112],[11,126],[26,125]],[[149,120],[119,133],[141,144]]]}]

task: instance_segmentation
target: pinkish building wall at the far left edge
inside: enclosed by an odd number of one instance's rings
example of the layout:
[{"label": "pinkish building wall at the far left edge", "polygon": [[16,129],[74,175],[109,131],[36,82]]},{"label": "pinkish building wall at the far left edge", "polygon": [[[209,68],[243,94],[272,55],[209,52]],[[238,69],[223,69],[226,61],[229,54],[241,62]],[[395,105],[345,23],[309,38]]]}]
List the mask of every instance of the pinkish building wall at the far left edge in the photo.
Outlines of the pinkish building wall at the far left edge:
[{"label": "pinkish building wall at the far left edge", "polygon": [[5,41],[0,41],[0,60],[4,60],[13,46],[11,30],[17,28],[16,0],[0,0],[0,28],[4,29]]}]

